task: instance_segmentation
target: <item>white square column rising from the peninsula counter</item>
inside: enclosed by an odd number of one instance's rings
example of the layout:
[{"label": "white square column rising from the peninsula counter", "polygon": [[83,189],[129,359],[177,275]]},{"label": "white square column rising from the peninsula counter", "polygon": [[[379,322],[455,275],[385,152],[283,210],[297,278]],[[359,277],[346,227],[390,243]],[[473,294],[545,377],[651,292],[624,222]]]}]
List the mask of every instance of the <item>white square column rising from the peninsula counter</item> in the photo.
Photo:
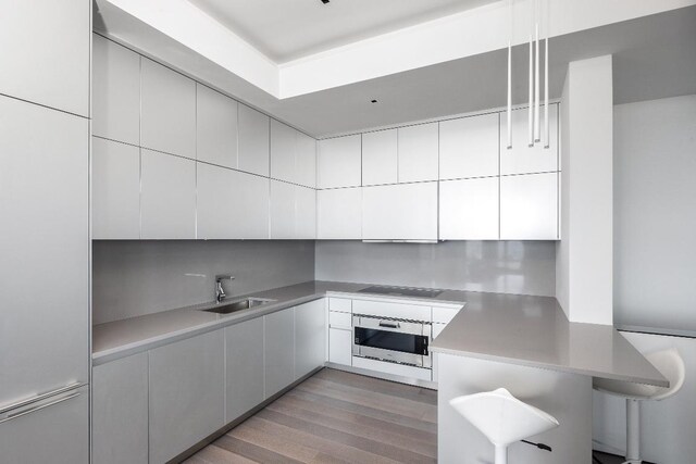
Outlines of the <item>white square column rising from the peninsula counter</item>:
[{"label": "white square column rising from the peninsula counter", "polygon": [[611,55],[568,66],[561,99],[556,294],[571,322],[612,324]]}]

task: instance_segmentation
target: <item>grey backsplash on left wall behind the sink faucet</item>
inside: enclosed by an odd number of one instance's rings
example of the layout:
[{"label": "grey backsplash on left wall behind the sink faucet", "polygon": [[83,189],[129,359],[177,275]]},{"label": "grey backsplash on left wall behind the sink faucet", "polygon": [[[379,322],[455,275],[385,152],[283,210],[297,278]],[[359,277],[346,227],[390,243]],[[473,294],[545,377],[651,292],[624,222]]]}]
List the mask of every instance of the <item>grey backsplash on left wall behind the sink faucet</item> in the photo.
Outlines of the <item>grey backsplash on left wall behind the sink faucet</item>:
[{"label": "grey backsplash on left wall behind the sink faucet", "polygon": [[314,278],[314,241],[95,241],[92,324],[211,301],[215,274],[227,294]]}]

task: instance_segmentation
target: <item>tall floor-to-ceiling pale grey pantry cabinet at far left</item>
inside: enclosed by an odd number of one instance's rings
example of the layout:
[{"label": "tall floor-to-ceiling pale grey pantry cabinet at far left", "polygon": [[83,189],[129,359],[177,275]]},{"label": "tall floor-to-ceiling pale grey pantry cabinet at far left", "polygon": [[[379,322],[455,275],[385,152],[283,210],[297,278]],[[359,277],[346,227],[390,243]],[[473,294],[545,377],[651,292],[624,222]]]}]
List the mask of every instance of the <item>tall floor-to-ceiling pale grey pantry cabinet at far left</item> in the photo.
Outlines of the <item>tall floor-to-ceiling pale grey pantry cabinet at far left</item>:
[{"label": "tall floor-to-ceiling pale grey pantry cabinet at far left", "polygon": [[87,463],[91,1],[0,4],[0,461]]}]

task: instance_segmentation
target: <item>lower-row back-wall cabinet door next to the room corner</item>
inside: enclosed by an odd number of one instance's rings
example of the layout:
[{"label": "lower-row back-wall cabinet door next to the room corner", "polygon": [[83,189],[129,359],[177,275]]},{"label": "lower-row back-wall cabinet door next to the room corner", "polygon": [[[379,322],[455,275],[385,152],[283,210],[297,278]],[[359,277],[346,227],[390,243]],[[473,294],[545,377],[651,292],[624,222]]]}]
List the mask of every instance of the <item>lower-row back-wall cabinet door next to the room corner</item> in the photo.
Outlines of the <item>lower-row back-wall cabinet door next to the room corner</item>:
[{"label": "lower-row back-wall cabinet door next to the room corner", "polygon": [[316,191],[316,238],[360,240],[362,238],[362,188]]}]

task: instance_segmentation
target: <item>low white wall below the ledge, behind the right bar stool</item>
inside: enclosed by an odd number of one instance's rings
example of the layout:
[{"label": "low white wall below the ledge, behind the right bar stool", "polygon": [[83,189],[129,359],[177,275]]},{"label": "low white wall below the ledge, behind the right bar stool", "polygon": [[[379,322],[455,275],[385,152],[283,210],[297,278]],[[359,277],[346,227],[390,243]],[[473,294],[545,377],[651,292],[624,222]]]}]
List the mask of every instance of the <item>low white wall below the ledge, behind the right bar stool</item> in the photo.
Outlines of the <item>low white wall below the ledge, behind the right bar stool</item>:
[{"label": "low white wall below the ledge, behind the right bar stool", "polygon": [[[642,457],[660,464],[684,464],[696,456],[696,339],[623,333],[642,352],[676,348],[686,364],[684,387],[674,397],[642,404]],[[593,396],[593,439],[596,450],[624,455],[625,400],[606,393]]]}]

